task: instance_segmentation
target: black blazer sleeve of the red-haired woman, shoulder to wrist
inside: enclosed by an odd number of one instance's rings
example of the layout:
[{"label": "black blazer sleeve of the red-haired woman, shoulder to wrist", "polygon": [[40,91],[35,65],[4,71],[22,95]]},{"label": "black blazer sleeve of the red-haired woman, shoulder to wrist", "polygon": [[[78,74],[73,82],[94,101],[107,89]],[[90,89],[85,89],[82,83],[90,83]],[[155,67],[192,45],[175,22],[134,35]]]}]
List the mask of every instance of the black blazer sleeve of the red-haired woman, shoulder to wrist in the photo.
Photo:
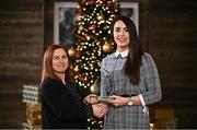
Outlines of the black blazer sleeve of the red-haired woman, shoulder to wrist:
[{"label": "black blazer sleeve of the red-haired woman, shoulder to wrist", "polygon": [[67,88],[49,79],[42,85],[43,110],[51,111],[60,120],[84,118]]}]

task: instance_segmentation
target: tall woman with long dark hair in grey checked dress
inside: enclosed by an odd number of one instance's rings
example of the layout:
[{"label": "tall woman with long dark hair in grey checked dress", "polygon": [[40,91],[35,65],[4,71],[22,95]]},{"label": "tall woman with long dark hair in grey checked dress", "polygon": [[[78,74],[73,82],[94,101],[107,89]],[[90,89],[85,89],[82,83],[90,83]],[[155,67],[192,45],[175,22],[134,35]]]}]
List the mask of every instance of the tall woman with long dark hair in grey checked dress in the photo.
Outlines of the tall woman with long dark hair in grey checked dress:
[{"label": "tall woman with long dark hair in grey checked dress", "polygon": [[109,97],[104,129],[149,129],[148,105],[162,96],[157,66],[129,17],[115,20],[111,33],[117,49],[102,61],[101,97]]}]

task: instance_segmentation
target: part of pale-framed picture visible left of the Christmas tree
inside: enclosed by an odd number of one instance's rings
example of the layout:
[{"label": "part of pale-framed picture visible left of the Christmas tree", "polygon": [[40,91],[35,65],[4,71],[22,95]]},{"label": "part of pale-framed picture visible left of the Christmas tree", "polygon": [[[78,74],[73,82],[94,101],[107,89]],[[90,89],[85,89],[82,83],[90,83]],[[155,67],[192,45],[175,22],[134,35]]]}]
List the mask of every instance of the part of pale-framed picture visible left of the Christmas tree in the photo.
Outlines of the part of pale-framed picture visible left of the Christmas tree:
[{"label": "part of pale-framed picture visible left of the Christmas tree", "polygon": [[74,24],[78,2],[55,2],[54,4],[54,43],[68,48],[74,44]]}]

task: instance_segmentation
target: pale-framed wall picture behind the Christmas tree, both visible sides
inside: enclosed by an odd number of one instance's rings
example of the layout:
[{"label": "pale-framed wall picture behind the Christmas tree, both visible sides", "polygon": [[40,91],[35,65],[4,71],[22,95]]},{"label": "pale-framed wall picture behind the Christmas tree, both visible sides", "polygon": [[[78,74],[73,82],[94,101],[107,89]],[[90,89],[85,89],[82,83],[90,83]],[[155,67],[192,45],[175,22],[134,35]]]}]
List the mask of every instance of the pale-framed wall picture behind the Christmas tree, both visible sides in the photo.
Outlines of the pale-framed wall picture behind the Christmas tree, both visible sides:
[{"label": "pale-framed wall picture behind the Christmas tree, both visible sides", "polygon": [[[54,3],[54,44],[63,44],[68,48],[74,44],[74,24],[78,19],[78,2]],[[120,2],[120,14],[129,16],[139,32],[138,2]]]}]

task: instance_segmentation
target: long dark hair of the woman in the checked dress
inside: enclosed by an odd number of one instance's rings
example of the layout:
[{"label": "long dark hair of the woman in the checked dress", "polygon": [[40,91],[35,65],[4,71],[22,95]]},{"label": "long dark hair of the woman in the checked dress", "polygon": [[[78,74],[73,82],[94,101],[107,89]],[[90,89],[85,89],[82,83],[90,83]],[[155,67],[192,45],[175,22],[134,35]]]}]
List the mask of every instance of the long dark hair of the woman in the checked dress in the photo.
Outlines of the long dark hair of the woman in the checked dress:
[{"label": "long dark hair of the woman in the checked dress", "polygon": [[130,17],[119,16],[114,21],[114,24],[111,29],[113,42],[114,42],[114,34],[113,34],[114,25],[117,21],[124,22],[124,24],[128,28],[129,37],[130,37],[129,54],[124,66],[124,72],[129,78],[131,83],[138,84],[140,82],[141,56],[143,52],[137,34],[137,29],[135,23],[130,20]]}]

